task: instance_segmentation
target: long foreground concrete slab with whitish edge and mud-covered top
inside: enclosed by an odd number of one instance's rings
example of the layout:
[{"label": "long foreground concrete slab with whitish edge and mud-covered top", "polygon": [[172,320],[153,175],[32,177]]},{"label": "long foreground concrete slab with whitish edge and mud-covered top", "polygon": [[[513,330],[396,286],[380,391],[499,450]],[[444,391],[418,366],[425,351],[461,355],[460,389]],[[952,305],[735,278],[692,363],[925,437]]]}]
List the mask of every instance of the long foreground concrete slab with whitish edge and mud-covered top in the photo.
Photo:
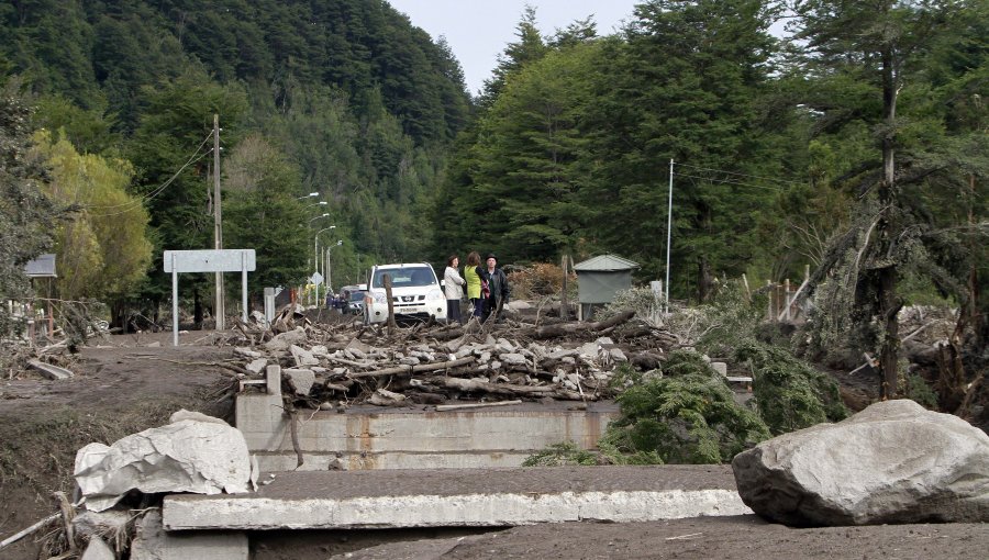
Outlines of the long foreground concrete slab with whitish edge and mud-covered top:
[{"label": "long foreground concrete slab with whitish edge and mud-covered top", "polygon": [[163,519],[167,530],[349,529],[751,513],[727,466],[560,467],[282,472],[249,495],[166,496]]}]

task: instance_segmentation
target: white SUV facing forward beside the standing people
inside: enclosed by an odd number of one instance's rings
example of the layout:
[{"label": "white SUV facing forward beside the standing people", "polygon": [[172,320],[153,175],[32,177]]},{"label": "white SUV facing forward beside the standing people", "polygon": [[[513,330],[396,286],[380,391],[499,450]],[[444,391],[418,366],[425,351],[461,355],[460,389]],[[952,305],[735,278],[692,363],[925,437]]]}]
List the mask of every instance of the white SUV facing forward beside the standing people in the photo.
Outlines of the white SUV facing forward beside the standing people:
[{"label": "white SUV facing forward beside the standing people", "polygon": [[446,320],[446,296],[440,288],[436,272],[426,262],[413,262],[378,265],[371,269],[370,283],[364,295],[365,323],[384,323],[388,320],[386,275],[391,277],[391,300],[397,320]]}]

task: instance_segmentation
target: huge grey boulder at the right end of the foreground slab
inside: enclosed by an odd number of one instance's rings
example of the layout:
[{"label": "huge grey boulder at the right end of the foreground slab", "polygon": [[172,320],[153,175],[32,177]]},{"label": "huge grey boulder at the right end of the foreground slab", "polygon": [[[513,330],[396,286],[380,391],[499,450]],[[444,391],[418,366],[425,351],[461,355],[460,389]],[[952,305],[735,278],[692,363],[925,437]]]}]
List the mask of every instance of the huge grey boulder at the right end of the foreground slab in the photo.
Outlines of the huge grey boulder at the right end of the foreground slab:
[{"label": "huge grey boulder at the right end of the foreground slab", "polygon": [[732,468],[745,505],[787,525],[989,522],[989,436],[913,401],[763,441]]}]

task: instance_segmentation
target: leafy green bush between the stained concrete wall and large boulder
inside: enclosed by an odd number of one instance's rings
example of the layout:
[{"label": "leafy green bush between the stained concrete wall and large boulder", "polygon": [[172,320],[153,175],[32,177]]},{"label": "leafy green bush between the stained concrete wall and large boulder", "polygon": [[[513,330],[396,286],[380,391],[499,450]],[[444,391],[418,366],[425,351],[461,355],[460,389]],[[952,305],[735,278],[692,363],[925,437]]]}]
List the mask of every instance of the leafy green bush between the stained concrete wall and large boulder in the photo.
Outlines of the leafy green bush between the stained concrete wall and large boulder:
[{"label": "leafy green bush between the stained concrete wall and large boulder", "polygon": [[612,462],[722,463],[769,437],[763,421],[735,403],[725,381],[696,352],[671,352],[664,370],[675,373],[618,397],[621,416],[600,444]]}]

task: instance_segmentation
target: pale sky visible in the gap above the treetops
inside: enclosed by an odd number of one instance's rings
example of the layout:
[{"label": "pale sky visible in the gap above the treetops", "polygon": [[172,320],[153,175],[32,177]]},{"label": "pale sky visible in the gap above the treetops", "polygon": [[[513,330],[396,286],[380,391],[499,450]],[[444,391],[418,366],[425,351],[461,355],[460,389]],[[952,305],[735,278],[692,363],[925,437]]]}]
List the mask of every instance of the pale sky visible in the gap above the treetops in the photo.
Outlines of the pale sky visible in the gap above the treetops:
[{"label": "pale sky visible in the gap above the treetops", "polygon": [[388,0],[396,10],[412,20],[433,40],[440,35],[453,49],[464,68],[467,90],[476,96],[498,55],[514,41],[515,26],[525,4],[536,9],[536,24],[543,36],[552,35],[577,20],[593,14],[598,35],[618,31],[622,20],[631,20],[636,3],[643,0]]}]

